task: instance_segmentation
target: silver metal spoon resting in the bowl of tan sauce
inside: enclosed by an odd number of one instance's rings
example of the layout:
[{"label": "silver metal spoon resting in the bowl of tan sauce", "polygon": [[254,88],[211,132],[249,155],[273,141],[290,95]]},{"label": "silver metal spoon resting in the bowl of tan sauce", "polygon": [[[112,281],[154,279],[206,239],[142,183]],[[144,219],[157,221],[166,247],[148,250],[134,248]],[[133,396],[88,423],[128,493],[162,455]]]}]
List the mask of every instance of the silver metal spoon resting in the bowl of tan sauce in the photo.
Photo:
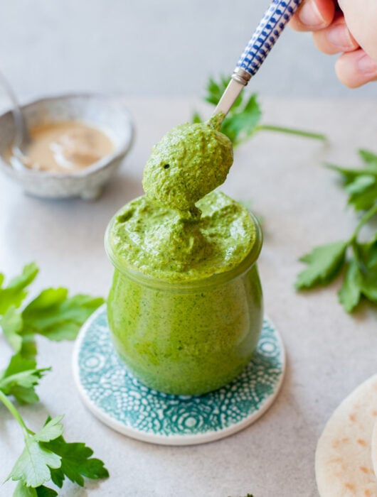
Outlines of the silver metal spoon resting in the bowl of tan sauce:
[{"label": "silver metal spoon resting in the bowl of tan sauce", "polygon": [[25,119],[23,117],[21,108],[18,105],[16,95],[14,94],[14,91],[11,88],[11,85],[6,80],[4,75],[1,74],[1,72],[0,72],[0,84],[4,88],[6,94],[9,97],[9,100],[11,101],[12,104],[11,113],[14,119],[15,134],[14,134],[13,145],[11,148],[13,156],[11,157],[10,163],[12,167],[16,170],[22,170],[22,171],[29,170],[26,164],[28,164],[30,161],[28,160],[28,158],[21,149],[21,147],[26,146],[31,141]]}]

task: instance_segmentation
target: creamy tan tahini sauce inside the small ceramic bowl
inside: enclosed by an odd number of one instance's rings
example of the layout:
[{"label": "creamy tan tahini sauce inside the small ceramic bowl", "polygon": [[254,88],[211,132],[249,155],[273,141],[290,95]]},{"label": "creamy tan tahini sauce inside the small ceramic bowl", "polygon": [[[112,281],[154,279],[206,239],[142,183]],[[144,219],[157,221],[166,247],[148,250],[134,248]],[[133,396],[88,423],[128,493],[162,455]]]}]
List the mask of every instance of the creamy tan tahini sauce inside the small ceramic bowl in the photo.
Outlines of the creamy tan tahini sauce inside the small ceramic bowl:
[{"label": "creamy tan tahini sauce inside the small ceramic bowl", "polygon": [[35,170],[79,171],[114,151],[114,144],[106,133],[80,121],[36,126],[30,135],[25,165]]}]

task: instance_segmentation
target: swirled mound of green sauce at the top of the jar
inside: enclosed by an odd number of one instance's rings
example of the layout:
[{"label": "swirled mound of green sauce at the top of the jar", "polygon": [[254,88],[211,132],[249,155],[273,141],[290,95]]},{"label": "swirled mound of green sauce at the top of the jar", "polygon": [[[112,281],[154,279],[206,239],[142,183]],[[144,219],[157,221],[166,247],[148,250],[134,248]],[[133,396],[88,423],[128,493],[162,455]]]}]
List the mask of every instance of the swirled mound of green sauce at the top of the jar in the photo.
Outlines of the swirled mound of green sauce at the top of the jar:
[{"label": "swirled mound of green sauce at the top of the jar", "polygon": [[129,202],[111,227],[118,266],[164,281],[200,280],[237,267],[257,236],[248,210],[218,191],[197,207],[200,215],[182,215],[147,196]]}]

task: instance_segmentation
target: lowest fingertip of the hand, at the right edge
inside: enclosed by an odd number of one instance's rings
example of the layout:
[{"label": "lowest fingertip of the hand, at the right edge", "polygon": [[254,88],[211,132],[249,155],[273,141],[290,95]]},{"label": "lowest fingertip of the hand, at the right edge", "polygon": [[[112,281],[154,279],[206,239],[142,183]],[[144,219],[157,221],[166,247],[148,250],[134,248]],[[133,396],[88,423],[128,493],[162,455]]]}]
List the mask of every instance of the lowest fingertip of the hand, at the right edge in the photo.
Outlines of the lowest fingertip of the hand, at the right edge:
[{"label": "lowest fingertip of the hand, at the right edge", "polygon": [[335,71],[339,80],[349,88],[377,80],[377,63],[361,49],[341,55],[336,60]]}]

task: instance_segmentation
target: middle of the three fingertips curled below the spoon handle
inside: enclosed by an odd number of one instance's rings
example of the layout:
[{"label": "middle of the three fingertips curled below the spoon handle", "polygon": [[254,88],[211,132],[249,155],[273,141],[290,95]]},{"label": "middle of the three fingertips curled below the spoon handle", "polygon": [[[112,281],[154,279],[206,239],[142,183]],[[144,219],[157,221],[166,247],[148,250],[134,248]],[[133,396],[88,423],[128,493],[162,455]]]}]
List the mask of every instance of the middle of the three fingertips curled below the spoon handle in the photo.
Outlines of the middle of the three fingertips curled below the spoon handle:
[{"label": "middle of the three fingertips curled below the spoon handle", "polygon": [[359,43],[349,32],[344,17],[340,14],[328,28],[313,33],[314,43],[319,50],[330,55],[340,52],[352,52],[359,48]]}]

